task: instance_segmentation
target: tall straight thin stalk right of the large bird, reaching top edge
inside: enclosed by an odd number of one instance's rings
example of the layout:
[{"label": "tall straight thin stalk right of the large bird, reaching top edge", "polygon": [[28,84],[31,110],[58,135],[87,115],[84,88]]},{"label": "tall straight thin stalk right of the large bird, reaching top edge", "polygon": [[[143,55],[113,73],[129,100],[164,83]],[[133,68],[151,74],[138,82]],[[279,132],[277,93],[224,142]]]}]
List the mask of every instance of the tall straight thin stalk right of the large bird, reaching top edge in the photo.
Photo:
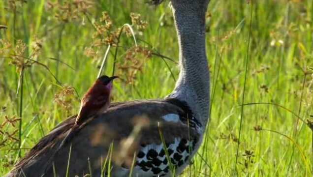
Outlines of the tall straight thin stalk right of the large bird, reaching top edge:
[{"label": "tall straight thin stalk right of the large bird, reaching top edge", "polygon": [[[246,82],[248,76],[248,61],[249,61],[249,52],[250,52],[250,39],[251,39],[251,28],[252,28],[252,14],[253,14],[253,1],[251,1],[251,12],[250,12],[250,27],[249,27],[249,37],[248,37],[248,46],[247,46],[247,57],[245,60],[245,81],[244,81],[244,90],[243,90],[243,97],[242,97],[242,104],[245,104],[245,94],[246,94]],[[242,120],[244,119],[244,106],[241,106],[241,116],[240,116],[240,126],[239,126],[239,136],[238,136],[238,143],[237,143],[237,151],[236,151],[236,164],[238,162],[238,155],[239,155],[239,144],[241,138],[241,130],[242,130]],[[236,165],[235,164],[235,165]]]}]

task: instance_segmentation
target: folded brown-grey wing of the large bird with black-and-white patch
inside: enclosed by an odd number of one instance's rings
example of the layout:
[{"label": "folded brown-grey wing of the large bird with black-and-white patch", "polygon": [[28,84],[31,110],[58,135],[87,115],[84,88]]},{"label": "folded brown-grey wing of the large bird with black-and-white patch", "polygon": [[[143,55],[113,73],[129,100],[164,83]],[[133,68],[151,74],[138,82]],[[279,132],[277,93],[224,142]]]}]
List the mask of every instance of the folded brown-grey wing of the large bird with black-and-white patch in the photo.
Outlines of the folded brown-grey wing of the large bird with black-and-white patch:
[{"label": "folded brown-grey wing of the large bird with black-and-white patch", "polygon": [[[134,153],[137,154],[135,168],[138,173],[165,173],[170,163],[179,168],[188,160],[191,154],[189,150],[199,141],[199,130],[189,125],[201,128],[201,124],[192,120],[192,115],[188,115],[189,110],[184,110],[184,106],[174,102],[150,100],[112,104],[106,113],[81,127],[71,143],[55,155],[54,168],[48,167],[45,174],[53,174],[55,169],[58,175],[64,176],[68,161],[70,175],[87,174],[90,168],[94,174],[100,173],[108,156],[112,158],[112,173],[122,173],[123,170],[126,173]],[[58,132],[55,136],[65,136],[67,131],[64,129],[64,132]],[[163,143],[166,150],[163,149]],[[19,165],[18,169],[22,169],[27,176],[32,176],[34,172],[36,175],[44,173],[42,169],[46,159],[55,150],[49,144],[44,148],[44,152],[32,152],[32,156],[22,159],[19,164],[23,165]],[[166,158],[166,151],[169,159]],[[165,164],[168,160],[171,162]]]}]

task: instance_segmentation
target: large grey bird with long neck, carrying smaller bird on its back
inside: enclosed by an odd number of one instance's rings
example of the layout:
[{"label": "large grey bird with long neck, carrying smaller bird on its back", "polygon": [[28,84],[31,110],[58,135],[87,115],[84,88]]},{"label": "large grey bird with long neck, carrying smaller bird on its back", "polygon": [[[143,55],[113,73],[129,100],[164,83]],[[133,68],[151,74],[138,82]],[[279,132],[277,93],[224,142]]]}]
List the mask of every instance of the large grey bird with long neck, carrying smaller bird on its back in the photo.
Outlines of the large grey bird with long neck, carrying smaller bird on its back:
[{"label": "large grey bird with long neck, carrying smaller bird on its back", "polygon": [[[160,3],[160,0],[154,0]],[[202,142],[209,119],[210,76],[205,51],[209,0],[171,0],[179,41],[180,75],[163,99],[112,103],[75,124],[67,118],[43,137],[7,177],[170,177],[182,173]]]}]

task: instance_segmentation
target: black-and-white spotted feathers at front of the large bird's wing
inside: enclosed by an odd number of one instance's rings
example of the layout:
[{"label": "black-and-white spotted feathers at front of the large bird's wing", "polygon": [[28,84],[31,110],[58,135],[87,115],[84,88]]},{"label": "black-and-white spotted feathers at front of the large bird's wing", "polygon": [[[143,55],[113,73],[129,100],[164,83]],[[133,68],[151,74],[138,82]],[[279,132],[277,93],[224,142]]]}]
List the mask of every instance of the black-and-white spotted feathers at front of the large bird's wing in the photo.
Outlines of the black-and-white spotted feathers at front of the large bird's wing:
[{"label": "black-and-white spotted feathers at front of the large bird's wing", "polygon": [[[200,134],[202,125],[193,117],[186,102],[177,99],[167,99],[166,102],[180,107],[183,112],[164,115],[162,117],[164,120],[185,124]],[[177,137],[174,141],[165,143],[166,148],[162,143],[142,144],[137,152],[134,168],[137,173],[144,176],[147,174],[151,177],[166,176],[171,173],[170,167],[178,169],[189,163],[190,156],[192,156],[198,141],[197,136],[189,139]]]}]

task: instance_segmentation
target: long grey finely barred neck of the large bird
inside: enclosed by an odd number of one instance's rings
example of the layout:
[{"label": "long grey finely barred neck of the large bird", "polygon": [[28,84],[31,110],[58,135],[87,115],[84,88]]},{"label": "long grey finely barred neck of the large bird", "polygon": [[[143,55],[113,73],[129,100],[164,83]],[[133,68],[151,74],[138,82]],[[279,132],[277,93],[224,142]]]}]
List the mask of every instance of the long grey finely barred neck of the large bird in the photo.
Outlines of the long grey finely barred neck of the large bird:
[{"label": "long grey finely barred neck of the large bird", "polygon": [[180,75],[168,97],[186,101],[204,125],[209,116],[210,75],[205,49],[205,12],[208,1],[173,0],[174,21],[179,41]]}]

